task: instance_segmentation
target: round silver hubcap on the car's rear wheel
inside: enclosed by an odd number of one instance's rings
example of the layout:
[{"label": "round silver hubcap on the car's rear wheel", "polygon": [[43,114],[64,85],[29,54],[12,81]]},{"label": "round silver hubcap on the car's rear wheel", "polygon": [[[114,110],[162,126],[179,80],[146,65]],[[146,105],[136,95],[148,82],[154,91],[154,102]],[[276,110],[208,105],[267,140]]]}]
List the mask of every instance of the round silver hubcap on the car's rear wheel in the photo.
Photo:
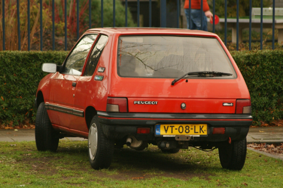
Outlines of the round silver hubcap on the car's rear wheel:
[{"label": "round silver hubcap on the car's rear wheel", "polygon": [[88,150],[89,150],[89,156],[93,161],[97,151],[97,127],[95,123],[93,123],[91,125],[91,128],[89,129]]}]

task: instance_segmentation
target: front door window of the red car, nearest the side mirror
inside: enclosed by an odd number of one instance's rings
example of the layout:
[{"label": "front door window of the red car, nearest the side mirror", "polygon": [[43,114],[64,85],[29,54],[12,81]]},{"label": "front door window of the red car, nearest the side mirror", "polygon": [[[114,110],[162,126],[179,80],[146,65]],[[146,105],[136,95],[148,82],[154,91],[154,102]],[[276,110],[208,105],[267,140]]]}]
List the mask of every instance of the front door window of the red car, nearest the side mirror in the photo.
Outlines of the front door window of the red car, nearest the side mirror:
[{"label": "front door window of the red car, nearest the side mirror", "polygon": [[77,46],[73,49],[68,57],[65,67],[63,68],[63,74],[80,75],[82,73],[83,65],[85,63],[86,56],[93,42],[95,41],[97,34],[85,35]]}]

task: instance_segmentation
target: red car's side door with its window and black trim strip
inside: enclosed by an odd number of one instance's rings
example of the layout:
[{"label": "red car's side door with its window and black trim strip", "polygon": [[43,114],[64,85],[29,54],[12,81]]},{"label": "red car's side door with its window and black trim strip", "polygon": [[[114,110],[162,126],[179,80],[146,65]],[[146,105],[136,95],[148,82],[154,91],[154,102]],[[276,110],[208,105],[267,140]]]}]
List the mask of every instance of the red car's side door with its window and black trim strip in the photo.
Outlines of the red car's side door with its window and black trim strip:
[{"label": "red car's side door with its window and black trim strip", "polygon": [[66,58],[62,71],[52,78],[48,109],[58,112],[57,122],[52,122],[56,125],[70,127],[74,116],[83,116],[83,111],[73,110],[75,88],[96,37],[96,33],[83,36]]}]

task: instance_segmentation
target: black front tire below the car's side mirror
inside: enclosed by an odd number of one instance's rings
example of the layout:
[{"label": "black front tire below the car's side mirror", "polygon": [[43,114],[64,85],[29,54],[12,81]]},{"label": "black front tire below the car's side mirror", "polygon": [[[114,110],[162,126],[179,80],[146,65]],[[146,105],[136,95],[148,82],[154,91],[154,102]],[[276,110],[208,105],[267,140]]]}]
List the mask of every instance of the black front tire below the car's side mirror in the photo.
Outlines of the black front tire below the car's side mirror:
[{"label": "black front tire below the car's side mirror", "polygon": [[44,102],[40,103],[35,119],[35,143],[38,151],[55,152],[59,143],[59,132],[51,125]]}]

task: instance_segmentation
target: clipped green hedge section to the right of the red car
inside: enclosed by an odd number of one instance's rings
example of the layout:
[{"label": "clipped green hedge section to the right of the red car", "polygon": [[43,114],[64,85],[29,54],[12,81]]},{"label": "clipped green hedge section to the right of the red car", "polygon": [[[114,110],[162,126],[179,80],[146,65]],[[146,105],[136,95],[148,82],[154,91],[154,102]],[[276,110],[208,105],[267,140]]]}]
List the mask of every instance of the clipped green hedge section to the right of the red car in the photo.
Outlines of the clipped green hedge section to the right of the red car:
[{"label": "clipped green hedge section to the right of the red car", "polygon": [[283,119],[283,51],[233,51],[251,95],[254,124]]}]

